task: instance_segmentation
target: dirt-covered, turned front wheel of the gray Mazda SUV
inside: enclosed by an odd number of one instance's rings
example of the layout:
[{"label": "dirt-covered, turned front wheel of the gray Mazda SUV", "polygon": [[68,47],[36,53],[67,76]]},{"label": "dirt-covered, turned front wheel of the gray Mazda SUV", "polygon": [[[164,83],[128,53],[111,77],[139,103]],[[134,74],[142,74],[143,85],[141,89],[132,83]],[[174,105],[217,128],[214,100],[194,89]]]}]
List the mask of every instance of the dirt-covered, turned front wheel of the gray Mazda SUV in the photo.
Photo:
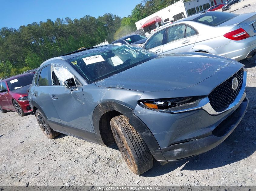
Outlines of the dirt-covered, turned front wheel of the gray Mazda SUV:
[{"label": "dirt-covered, turned front wheel of the gray Mazda SUV", "polygon": [[115,142],[129,169],[139,175],[153,166],[153,157],[138,132],[124,115],[110,120]]}]

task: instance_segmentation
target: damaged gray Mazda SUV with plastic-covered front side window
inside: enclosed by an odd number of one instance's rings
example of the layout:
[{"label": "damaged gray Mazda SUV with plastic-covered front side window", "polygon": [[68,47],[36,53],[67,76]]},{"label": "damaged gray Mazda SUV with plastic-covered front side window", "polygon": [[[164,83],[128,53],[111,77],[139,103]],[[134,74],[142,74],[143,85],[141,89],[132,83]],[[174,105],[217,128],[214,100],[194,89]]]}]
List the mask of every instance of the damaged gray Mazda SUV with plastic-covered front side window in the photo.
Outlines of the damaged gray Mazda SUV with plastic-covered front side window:
[{"label": "damaged gray Mazda SUV with plastic-covered front side window", "polygon": [[43,62],[28,99],[43,133],[116,142],[135,174],[219,145],[245,114],[246,70],[205,53],[159,56],[127,45]]}]

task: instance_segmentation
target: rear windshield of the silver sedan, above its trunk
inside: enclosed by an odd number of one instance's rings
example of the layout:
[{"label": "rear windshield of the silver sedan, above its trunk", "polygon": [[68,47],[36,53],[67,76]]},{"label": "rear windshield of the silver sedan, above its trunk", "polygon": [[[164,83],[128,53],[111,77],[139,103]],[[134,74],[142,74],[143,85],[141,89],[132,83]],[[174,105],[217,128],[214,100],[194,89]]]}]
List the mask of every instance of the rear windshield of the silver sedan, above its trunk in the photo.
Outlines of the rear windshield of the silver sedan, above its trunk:
[{"label": "rear windshield of the silver sedan, above its trunk", "polygon": [[218,26],[224,22],[229,21],[232,18],[235,18],[238,14],[234,13],[225,13],[219,11],[211,11],[210,13],[203,13],[199,17],[194,18],[192,21],[199,23],[207,24],[210,26]]}]

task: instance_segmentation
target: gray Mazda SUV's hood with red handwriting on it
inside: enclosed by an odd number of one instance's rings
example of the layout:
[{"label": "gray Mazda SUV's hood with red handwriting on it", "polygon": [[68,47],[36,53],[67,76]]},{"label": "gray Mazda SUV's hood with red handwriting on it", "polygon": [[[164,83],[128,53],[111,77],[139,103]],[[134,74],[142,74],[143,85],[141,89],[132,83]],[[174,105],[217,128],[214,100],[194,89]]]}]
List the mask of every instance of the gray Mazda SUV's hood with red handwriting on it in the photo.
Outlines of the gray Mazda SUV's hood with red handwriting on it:
[{"label": "gray Mazda SUV's hood with red handwriting on it", "polygon": [[97,86],[152,92],[182,89],[209,78],[231,59],[206,53],[159,56],[133,68],[95,82]]}]

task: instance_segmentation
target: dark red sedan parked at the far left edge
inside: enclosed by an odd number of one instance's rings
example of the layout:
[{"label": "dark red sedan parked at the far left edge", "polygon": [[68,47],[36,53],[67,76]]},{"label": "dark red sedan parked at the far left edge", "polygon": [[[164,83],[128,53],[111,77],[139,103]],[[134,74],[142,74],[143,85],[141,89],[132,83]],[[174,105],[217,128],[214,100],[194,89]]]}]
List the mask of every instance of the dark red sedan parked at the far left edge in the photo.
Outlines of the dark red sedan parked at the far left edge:
[{"label": "dark red sedan parked at the far left edge", "polygon": [[35,73],[16,75],[0,81],[0,111],[16,111],[19,116],[32,112],[28,103],[27,89],[32,84]]}]

